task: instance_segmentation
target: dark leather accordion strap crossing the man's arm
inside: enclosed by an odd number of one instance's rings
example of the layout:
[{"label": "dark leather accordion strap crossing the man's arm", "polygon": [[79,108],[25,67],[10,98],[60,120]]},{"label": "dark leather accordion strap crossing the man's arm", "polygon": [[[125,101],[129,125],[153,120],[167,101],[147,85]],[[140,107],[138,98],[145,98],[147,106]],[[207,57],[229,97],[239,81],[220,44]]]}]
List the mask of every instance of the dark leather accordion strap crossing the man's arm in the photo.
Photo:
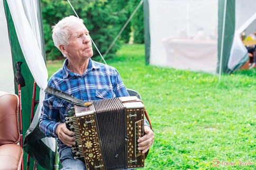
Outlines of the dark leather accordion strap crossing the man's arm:
[{"label": "dark leather accordion strap crossing the man's arm", "polygon": [[65,93],[63,91],[60,91],[59,89],[52,88],[50,86],[47,86],[47,88],[45,88],[44,91],[49,93],[49,94],[51,94],[51,95],[53,95],[53,96],[59,97],[59,98],[65,100],[65,101],[67,101],[69,103],[73,103],[73,104],[78,105],[78,106],[88,107],[88,106],[93,104],[91,102],[82,101],[79,98],[71,96],[70,94],[67,94],[67,93]]}]

